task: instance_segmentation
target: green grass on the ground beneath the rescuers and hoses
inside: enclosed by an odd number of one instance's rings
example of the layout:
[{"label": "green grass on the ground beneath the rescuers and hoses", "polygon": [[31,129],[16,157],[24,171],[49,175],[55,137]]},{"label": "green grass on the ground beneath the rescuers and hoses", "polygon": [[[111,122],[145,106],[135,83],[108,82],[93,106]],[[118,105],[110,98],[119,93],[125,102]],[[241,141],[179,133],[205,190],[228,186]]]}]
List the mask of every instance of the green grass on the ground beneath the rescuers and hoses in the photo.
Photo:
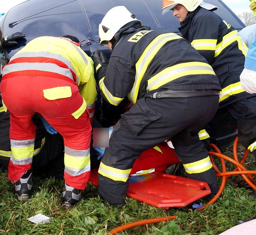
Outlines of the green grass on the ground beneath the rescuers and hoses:
[{"label": "green grass on the ground beneath the rescuers and hoses", "polygon": [[[232,156],[231,149],[223,151]],[[239,146],[241,158],[243,148]],[[247,162],[253,160],[249,155]],[[219,166],[219,161],[216,159]],[[228,170],[232,164],[227,163]],[[247,165],[248,170],[255,170],[255,163]],[[220,169],[220,167],[219,167]],[[115,208],[99,199],[97,187],[88,184],[83,191],[83,200],[73,209],[61,207],[63,181],[33,179],[32,196],[26,202],[19,202],[14,195],[14,186],[8,181],[7,173],[0,175],[0,234],[108,234],[107,231],[140,219],[177,215],[170,222],[161,222],[129,229],[120,234],[219,234],[235,226],[239,219],[253,217],[256,214],[256,200],[248,198],[250,190],[236,187],[228,182],[221,197],[214,204],[202,211],[192,210],[191,206],[155,208],[134,199],[127,198],[126,206]],[[240,176],[232,176],[233,182],[242,181]],[[219,180],[220,181],[220,180]],[[202,199],[207,202],[208,200]],[[42,213],[51,217],[51,222],[44,225],[30,223],[27,218]]]}]

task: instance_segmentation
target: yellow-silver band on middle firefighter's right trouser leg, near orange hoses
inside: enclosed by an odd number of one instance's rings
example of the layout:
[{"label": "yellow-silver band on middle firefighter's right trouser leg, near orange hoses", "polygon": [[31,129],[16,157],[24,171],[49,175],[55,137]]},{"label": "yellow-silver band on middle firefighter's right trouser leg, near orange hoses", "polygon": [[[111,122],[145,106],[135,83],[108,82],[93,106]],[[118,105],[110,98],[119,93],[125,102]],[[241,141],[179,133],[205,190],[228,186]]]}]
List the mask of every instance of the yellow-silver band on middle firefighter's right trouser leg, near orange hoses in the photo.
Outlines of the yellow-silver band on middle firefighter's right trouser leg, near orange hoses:
[{"label": "yellow-silver band on middle firefighter's right trouser leg, near orange hoses", "polygon": [[183,166],[188,174],[195,174],[211,169],[212,162],[210,160],[210,157],[208,156],[200,161],[183,164]]}]

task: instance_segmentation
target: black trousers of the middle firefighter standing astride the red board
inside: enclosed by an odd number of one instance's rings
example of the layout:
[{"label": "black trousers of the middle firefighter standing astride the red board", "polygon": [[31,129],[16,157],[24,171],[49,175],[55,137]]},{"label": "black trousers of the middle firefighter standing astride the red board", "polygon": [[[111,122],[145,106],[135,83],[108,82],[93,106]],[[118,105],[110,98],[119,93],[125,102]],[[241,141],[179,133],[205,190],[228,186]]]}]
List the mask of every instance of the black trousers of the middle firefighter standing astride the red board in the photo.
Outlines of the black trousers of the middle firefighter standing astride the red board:
[{"label": "black trousers of the middle firefighter standing astride the red board", "polygon": [[[135,159],[147,148],[169,137],[176,136],[175,142],[180,139],[186,143],[186,146],[176,144],[176,151],[181,159],[183,155],[185,158],[190,156],[191,161],[187,162],[195,162],[191,167],[187,166],[191,174],[200,173],[200,169],[206,172],[205,169],[212,168],[198,132],[214,116],[217,107],[218,96],[138,100],[129,112],[122,115],[119,128],[114,129],[109,140],[110,147],[106,149],[100,163],[98,180],[101,197],[113,204],[123,204],[129,187],[127,179]],[[179,135],[182,131],[186,134]],[[201,160],[198,165],[196,162]],[[207,175],[211,174],[210,179],[215,178],[214,171],[207,172]],[[217,187],[215,182],[212,183],[213,190]]]}]

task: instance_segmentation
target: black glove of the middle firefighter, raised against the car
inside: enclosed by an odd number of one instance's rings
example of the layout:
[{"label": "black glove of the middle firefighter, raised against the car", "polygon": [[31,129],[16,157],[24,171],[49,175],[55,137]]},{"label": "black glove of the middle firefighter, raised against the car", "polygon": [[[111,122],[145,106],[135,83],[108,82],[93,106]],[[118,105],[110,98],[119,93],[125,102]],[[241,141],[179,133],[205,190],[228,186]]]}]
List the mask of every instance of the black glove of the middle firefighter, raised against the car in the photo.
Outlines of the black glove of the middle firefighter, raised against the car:
[{"label": "black glove of the middle firefighter, raised against the car", "polygon": [[98,80],[103,78],[106,74],[107,70],[107,65],[108,65],[108,59],[107,56],[103,53],[97,50],[94,53],[94,69],[95,69],[95,74],[97,74]]}]

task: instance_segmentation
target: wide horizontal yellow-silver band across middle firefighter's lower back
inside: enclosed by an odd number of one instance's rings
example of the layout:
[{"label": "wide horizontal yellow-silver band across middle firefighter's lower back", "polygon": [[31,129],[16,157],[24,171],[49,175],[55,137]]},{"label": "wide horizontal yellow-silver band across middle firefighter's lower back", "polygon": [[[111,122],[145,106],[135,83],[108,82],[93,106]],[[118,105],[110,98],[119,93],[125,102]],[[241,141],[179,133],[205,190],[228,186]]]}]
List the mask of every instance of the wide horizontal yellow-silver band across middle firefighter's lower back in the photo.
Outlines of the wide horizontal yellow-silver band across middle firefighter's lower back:
[{"label": "wide horizontal yellow-silver band across middle firefighter's lower back", "polygon": [[148,80],[147,92],[155,90],[162,85],[187,75],[212,74],[215,75],[211,65],[203,62],[187,62],[176,64],[162,70]]}]

